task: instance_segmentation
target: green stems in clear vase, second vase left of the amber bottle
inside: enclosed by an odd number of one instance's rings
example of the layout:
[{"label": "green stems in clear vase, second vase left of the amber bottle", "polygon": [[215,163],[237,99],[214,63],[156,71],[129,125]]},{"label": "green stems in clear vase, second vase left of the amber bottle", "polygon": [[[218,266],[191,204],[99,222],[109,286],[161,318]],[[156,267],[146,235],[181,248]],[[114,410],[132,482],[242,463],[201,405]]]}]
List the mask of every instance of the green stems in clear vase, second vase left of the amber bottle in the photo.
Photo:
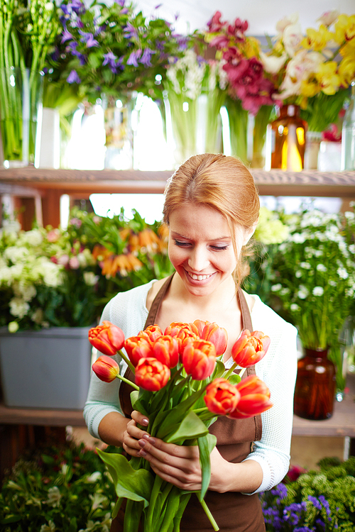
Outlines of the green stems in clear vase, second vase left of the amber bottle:
[{"label": "green stems in clear vase, second vase left of the amber bottle", "polygon": [[225,106],[229,117],[231,155],[239,157],[246,163],[248,162],[247,129],[249,112],[243,109],[239,99],[233,99],[230,96],[226,97]]}]

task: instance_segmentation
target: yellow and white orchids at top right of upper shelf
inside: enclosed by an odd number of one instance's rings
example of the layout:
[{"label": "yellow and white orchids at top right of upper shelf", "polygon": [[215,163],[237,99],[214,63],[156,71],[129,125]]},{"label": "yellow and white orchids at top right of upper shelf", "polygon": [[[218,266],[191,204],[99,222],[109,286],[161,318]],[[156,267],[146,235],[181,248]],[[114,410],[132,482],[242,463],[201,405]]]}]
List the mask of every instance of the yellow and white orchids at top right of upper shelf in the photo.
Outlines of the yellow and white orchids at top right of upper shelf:
[{"label": "yellow and white orchids at top right of upper shelf", "polygon": [[332,10],[306,35],[294,13],[276,25],[270,49],[261,52],[263,67],[273,76],[278,99],[297,104],[309,131],[324,131],[337,121],[355,74],[355,16]]}]

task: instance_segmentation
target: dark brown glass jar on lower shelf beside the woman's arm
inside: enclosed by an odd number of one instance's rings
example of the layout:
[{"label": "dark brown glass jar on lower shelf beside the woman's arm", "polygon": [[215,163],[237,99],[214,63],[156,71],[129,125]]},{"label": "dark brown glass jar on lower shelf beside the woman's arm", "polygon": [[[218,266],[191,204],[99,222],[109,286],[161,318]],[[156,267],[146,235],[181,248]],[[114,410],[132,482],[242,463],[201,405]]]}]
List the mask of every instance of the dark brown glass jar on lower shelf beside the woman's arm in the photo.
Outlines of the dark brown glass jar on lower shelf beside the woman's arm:
[{"label": "dark brown glass jar on lower shelf beside the woman's arm", "polygon": [[335,366],[327,349],[307,349],[297,362],[293,411],[305,419],[328,419],[333,414]]}]

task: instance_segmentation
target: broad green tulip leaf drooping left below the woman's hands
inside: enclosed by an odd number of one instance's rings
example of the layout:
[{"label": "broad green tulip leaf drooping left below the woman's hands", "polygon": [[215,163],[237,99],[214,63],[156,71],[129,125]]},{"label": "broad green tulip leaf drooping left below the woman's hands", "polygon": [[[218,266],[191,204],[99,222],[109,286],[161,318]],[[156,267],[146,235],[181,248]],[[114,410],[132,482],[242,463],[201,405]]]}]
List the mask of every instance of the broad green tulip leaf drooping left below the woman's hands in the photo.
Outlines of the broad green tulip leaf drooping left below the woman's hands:
[{"label": "broad green tulip leaf drooping left below the woman's hands", "polygon": [[133,470],[124,455],[104,453],[100,449],[97,449],[97,453],[107,465],[117,496],[142,501],[144,507],[148,506],[154,482],[153,475],[147,470]]}]

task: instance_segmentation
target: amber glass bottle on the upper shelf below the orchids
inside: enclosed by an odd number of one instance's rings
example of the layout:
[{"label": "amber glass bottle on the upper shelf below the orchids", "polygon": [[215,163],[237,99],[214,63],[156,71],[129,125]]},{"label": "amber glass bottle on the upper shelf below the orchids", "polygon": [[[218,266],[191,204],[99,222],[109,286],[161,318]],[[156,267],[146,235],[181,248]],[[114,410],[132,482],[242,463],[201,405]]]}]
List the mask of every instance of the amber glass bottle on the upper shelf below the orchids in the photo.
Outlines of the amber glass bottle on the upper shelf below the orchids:
[{"label": "amber glass bottle on the upper shelf below the orchids", "polygon": [[300,118],[300,108],[296,105],[283,105],[279,114],[268,126],[270,167],[300,172],[305,162],[307,122]]}]

